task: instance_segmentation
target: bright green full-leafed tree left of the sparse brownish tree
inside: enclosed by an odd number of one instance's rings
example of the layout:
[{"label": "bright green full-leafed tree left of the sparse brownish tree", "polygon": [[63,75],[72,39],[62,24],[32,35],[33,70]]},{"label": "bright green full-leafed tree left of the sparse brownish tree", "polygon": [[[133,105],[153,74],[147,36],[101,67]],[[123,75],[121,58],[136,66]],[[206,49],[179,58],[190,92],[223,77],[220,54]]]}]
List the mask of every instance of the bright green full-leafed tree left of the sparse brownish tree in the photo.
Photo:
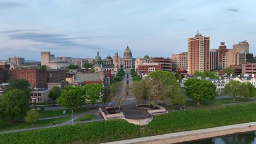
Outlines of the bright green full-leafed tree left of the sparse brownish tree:
[{"label": "bright green full-leafed tree left of the sparse brownish tree", "polygon": [[84,86],[86,89],[86,98],[90,100],[92,108],[95,102],[101,99],[104,87],[99,83],[91,83],[90,85]]}]

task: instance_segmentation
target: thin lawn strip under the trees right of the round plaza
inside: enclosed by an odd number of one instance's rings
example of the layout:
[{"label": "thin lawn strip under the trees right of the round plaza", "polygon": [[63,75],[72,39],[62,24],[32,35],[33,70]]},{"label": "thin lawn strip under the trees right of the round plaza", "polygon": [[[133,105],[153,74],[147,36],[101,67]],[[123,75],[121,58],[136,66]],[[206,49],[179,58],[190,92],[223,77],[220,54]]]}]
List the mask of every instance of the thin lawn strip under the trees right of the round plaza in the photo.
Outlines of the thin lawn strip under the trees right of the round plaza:
[{"label": "thin lawn strip under the trees right of the round plaza", "polygon": [[245,102],[245,101],[256,101],[256,99],[236,99],[236,101],[232,101],[232,99],[228,99],[226,101],[223,101],[223,99],[220,99],[219,101],[209,101],[206,103],[206,101],[202,101],[200,103],[200,105],[196,105],[195,103],[193,104],[187,104],[186,106],[212,106],[212,105],[222,105],[222,104],[233,104],[233,103],[241,103],[241,102]]}]

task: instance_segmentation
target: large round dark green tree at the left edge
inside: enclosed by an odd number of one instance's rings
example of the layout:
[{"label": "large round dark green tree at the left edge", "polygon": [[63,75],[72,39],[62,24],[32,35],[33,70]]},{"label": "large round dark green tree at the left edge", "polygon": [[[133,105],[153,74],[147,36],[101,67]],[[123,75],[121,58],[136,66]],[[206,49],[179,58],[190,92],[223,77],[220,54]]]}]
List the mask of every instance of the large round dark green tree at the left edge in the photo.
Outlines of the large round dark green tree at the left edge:
[{"label": "large round dark green tree at the left edge", "polygon": [[16,118],[24,118],[30,110],[30,98],[21,89],[11,89],[2,95],[0,117],[4,121],[14,122]]}]

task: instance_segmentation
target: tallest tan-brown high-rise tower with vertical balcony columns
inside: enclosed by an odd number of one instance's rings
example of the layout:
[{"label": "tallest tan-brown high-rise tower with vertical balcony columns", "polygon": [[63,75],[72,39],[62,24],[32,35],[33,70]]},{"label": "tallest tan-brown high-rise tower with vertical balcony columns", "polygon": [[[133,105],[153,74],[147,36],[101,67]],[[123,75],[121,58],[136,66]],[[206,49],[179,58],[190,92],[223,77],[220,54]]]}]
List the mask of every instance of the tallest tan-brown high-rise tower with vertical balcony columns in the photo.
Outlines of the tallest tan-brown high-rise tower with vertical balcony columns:
[{"label": "tallest tan-brown high-rise tower with vertical balcony columns", "polygon": [[202,34],[188,39],[188,74],[210,70],[210,37]]}]

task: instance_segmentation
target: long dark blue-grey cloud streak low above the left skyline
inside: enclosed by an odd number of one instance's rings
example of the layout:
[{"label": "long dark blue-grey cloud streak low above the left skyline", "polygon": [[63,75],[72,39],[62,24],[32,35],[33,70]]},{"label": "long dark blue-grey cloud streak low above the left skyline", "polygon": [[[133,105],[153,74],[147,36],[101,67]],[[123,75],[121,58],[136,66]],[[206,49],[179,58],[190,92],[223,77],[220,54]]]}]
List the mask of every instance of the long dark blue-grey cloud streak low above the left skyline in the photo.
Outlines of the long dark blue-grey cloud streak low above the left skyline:
[{"label": "long dark blue-grey cloud streak low above the left skyline", "polygon": [[68,49],[77,47],[86,47],[90,49],[101,49],[96,45],[79,44],[74,40],[77,39],[97,39],[100,37],[69,37],[66,34],[48,34],[48,33],[15,33],[9,35],[10,40],[31,40],[39,43],[43,43],[39,47],[42,49],[49,47],[56,47],[56,49]]}]

